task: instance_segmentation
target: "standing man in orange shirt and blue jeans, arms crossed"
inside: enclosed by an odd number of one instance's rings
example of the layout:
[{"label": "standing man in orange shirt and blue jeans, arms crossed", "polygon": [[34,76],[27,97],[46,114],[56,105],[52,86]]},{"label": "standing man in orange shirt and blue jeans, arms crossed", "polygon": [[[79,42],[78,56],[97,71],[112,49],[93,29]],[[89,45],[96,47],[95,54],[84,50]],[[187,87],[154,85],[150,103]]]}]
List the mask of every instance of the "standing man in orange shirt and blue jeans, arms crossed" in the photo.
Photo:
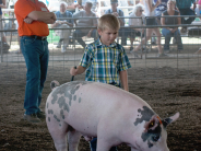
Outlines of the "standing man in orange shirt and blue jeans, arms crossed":
[{"label": "standing man in orange shirt and blue jeans, arms crossed", "polygon": [[40,119],[45,118],[39,105],[49,58],[47,24],[55,23],[56,15],[38,0],[17,0],[14,13],[19,23],[21,49],[27,68],[24,119],[40,123]]}]

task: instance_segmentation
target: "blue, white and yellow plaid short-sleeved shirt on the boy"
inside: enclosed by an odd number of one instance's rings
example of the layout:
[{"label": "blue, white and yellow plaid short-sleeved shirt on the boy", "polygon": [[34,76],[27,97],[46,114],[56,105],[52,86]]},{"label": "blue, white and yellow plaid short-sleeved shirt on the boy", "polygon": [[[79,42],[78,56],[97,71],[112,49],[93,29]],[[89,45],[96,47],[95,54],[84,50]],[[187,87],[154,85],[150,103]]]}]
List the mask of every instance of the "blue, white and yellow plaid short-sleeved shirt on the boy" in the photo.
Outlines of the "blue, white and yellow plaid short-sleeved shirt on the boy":
[{"label": "blue, white and yellow plaid short-sleeved shirt on the boy", "polygon": [[86,46],[80,66],[86,68],[85,81],[120,85],[119,72],[131,68],[121,45],[106,46],[99,39]]}]

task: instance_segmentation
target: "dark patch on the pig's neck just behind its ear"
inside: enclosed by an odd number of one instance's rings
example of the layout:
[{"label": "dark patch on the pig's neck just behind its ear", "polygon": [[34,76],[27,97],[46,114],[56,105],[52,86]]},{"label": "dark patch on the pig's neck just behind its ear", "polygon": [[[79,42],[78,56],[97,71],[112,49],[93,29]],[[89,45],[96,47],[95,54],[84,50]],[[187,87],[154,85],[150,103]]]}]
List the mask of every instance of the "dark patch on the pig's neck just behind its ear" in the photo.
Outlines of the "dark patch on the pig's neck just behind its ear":
[{"label": "dark patch on the pig's neck just behind its ear", "polygon": [[138,124],[141,124],[142,121],[150,121],[150,119],[152,118],[153,115],[155,115],[155,113],[150,109],[147,106],[143,106],[143,109],[139,108],[138,112],[141,113],[141,117],[137,118],[134,125],[137,126]]}]

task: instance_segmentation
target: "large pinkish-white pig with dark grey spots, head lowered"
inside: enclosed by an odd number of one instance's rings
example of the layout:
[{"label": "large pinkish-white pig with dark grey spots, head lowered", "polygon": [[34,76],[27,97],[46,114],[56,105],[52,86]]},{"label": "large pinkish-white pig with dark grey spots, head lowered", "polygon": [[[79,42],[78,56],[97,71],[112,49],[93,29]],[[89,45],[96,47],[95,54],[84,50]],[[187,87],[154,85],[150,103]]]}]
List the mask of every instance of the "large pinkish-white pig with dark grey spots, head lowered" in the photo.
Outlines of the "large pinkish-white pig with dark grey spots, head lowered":
[{"label": "large pinkish-white pig with dark grey spots, head lowered", "polygon": [[142,98],[109,84],[74,81],[56,85],[52,81],[46,123],[57,151],[78,151],[81,135],[87,141],[97,137],[97,151],[121,143],[131,151],[169,151],[166,127],[179,113],[161,119]]}]

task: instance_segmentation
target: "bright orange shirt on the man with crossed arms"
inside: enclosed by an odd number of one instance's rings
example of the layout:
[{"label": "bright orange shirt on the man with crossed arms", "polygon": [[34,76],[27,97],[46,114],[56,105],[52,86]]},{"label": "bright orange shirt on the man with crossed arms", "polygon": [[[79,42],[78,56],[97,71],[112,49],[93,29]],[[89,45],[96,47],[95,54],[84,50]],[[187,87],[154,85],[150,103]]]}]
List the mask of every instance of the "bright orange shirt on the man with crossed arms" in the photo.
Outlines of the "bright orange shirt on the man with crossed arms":
[{"label": "bright orange shirt on the man with crossed arms", "polygon": [[46,11],[49,12],[47,7],[43,2],[35,0],[35,3],[31,0],[17,0],[14,5],[14,13],[19,22],[19,35],[20,36],[48,36],[48,25],[44,22],[33,21],[31,24],[24,22],[24,19],[33,11]]}]

